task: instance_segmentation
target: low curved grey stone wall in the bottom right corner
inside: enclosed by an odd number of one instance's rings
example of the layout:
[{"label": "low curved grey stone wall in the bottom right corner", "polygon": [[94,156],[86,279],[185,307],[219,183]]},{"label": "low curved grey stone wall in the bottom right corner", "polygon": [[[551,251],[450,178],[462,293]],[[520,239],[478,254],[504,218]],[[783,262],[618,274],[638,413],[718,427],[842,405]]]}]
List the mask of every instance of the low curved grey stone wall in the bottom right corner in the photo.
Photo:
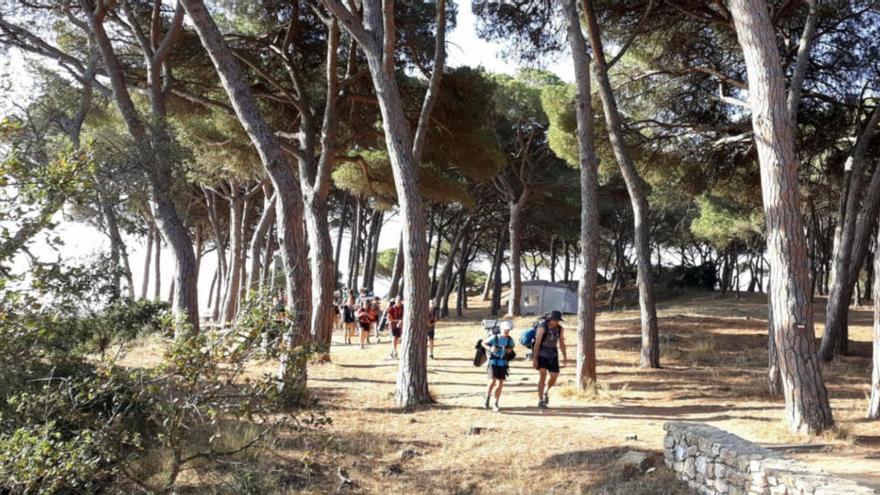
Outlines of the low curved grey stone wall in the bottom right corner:
[{"label": "low curved grey stone wall in the bottom right corner", "polygon": [[666,465],[699,494],[876,494],[714,426],[666,423],[663,429]]}]

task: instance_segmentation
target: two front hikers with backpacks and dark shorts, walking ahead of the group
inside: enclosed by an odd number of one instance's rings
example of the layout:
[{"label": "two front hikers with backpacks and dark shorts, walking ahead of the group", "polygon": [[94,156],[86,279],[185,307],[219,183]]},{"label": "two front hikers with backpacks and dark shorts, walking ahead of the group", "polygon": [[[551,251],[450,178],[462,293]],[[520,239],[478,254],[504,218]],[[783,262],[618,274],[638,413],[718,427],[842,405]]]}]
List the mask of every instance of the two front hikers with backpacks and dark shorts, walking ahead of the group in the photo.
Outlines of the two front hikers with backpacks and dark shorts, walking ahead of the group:
[{"label": "two front hikers with backpacks and dark shorts, walking ahead of the group", "polygon": [[[546,318],[540,321],[535,331],[535,340],[532,346],[532,367],[538,370],[538,407],[546,409],[550,404],[550,389],[556,385],[559,378],[559,370],[568,363],[568,354],[565,348],[563,335],[562,313],[551,311]],[[486,385],[486,400],[484,407],[489,409],[494,392],[495,404],[492,407],[496,412],[499,410],[501,390],[504,382],[510,374],[510,361],[516,357],[513,352],[515,343],[510,331],[513,323],[502,321],[498,333],[483,341],[488,357],[487,374],[489,383]],[[560,351],[562,360],[559,360]]]}]

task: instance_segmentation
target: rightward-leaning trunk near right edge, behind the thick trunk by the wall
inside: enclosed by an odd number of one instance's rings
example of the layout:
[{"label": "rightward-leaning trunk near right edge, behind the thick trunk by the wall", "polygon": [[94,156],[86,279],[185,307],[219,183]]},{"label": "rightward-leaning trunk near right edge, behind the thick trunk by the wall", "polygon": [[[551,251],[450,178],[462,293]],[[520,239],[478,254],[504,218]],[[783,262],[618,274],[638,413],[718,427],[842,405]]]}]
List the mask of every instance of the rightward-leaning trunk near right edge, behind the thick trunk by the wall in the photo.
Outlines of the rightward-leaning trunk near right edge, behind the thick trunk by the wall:
[{"label": "rightward-leaning trunk near right edge, behind the thick trunk by the wall", "polygon": [[[843,188],[837,210],[837,228],[834,234],[834,262],[831,272],[831,292],[828,295],[828,306],[825,316],[825,333],[819,355],[824,361],[830,361],[837,354],[846,354],[848,343],[849,305],[852,300],[853,286],[858,280],[861,261],[853,259],[853,251],[860,251],[855,236],[856,230],[871,229],[872,221],[857,222],[859,204],[864,189],[865,154],[874,137],[877,124],[880,123],[880,105],[874,108],[864,130],[856,139],[852,155],[847,159],[844,168]],[[875,171],[875,175],[880,172]],[[873,179],[872,179],[873,183]],[[876,198],[865,196],[865,208]],[[866,212],[867,213],[867,212]],[[876,215],[869,217],[875,218]],[[862,234],[863,239],[870,238],[870,232]],[[867,244],[864,240],[861,241]],[[864,255],[863,255],[864,256]],[[853,269],[853,265],[856,265]],[[850,273],[854,276],[850,276]]]}]

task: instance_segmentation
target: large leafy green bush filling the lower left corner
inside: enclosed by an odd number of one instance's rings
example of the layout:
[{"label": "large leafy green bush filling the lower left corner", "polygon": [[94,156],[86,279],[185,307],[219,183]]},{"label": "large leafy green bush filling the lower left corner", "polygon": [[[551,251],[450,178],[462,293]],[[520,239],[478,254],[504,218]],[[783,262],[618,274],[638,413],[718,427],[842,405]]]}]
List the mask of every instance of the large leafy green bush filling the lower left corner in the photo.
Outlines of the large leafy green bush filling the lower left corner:
[{"label": "large leafy green bush filling the lower left corner", "polygon": [[256,448],[279,428],[326,422],[300,422],[288,407],[302,399],[308,347],[287,353],[285,387],[244,375],[263,335],[277,348],[289,331],[268,299],[248,303],[227,333],[178,332],[156,368],[126,369],[116,361],[126,344],[173,334],[167,307],[94,305],[78,280],[88,271],[40,275],[40,291],[0,284],[0,493],[170,492],[185,469]]}]

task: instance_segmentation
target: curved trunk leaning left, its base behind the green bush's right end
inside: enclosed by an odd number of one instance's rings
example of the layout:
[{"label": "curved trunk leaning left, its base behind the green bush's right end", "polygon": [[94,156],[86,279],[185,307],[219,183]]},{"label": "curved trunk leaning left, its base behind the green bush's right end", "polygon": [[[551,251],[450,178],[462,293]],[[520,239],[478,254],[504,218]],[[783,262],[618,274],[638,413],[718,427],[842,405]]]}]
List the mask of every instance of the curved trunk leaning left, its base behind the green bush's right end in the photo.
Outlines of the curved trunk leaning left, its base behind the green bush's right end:
[{"label": "curved trunk leaning left, its base behind the green bush's right end", "polygon": [[281,150],[250,91],[250,86],[223,35],[202,0],[181,0],[208,52],[238,120],[254,144],[263,168],[272,180],[276,225],[284,262],[290,322],[284,333],[278,379],[288,401],[301,398],[306,386],[306,354],[295,349],[309,340],[311,286],[308,250],[303,236],[303,202],[293,167]]}]

